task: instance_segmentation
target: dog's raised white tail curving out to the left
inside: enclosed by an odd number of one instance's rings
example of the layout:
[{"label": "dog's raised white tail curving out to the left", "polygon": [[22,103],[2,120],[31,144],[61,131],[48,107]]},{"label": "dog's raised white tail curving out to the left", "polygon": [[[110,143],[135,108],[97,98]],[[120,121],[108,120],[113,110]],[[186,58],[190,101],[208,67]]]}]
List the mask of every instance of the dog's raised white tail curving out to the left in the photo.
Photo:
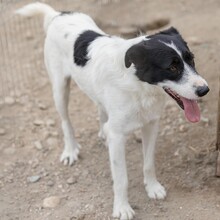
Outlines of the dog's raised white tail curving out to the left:
[{"label": "dog's raised white tail curving out to the left", "polygon": [[47,28],[51,22],[51,20],[59,14],[59,12],[55,11],[52,7],[47,4],[35,2],[15,11],[16,14],[32,17],[35,15],[43,15],[44,16],[44,31],[47,32]]}]

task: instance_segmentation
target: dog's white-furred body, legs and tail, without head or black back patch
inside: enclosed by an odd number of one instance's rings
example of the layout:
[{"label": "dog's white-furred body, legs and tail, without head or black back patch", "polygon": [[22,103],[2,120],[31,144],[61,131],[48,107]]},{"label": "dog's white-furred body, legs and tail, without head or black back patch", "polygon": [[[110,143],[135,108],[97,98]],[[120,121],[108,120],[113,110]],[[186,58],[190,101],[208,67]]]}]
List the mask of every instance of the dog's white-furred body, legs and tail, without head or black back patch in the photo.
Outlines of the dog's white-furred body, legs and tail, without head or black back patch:
[{"label": "dog's white-furred body, legs and tail, without head or black back patch", "polygon": [[[74,79],[99,110],[99,136],[106,137],[114,181],[113,216],[123,220],[134,216],[127,195],[125,142],[126,135],[137,128],[142,130],[146,191],[150,198],[163,199],[166,191],[156,179],[154,149],[165,93],[159,86],[138,80],[134,66],[126,68],[124,64],[126,51],[132,45],[146,40],[146,36],[130,40],[119,37],[97,38],[89,46],[89,61],[84,67],[80,67],[73,62],[72,49],[79,34],[93,30],[105,35],[89,16],[82,13],[57,16],[59,12],[42,3],[29,4],[17,13],[24,16],[45,16],[45,64],[56,108],[62,120],[65,143],[61,161],[71,165],[79,154],[79,144],[68,115],[70,79]],[[64,35],[68,37],[65,38]]]}]

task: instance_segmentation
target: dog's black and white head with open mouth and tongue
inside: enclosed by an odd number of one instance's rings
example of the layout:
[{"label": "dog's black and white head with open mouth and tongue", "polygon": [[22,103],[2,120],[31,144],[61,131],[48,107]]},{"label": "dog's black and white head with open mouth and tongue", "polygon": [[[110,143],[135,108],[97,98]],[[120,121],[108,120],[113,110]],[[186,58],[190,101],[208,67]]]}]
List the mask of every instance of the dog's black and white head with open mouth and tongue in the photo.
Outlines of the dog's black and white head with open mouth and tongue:
[{"label": "dog's black and white head with open mouth and tongue", "polygon": [[179,32],[171,27],[130,47],[125,66],[135,66],[137,77],[161,86],[184,109],[191,122],[200,120],[197,99],[209,91],[195,69],[194,56]]}]

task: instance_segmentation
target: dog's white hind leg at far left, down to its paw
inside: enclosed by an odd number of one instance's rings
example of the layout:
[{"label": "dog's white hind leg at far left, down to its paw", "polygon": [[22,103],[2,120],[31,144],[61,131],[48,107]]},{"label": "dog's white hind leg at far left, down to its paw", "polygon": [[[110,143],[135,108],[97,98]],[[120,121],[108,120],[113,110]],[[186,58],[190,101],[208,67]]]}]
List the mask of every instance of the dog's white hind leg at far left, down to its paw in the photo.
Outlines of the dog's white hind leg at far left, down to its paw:
[{"label": "dog's white hind leg at far left, down to its paw", "polygon": [[74,130],[68,114],[70,78],[58,77],[53,82],[53,96],[56,109],[60,115],[64,135],[64,150],[60,161],[72,165],[78,159],[79,144],[75,140]]}]

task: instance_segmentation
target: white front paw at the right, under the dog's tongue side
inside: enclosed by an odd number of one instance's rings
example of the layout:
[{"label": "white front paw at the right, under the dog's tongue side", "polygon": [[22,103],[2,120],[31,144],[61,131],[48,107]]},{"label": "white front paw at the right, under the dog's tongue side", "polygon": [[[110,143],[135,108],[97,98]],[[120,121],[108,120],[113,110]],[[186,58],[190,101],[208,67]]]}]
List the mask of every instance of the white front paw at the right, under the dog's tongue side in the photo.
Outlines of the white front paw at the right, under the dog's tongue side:
[{"label": "white front paw at the right, under the dog's tongue side", "polygon": [[164,199],[166,197],[165,188],[157,181],[153,184],[147,184],[145,189],[151,199]]}]

